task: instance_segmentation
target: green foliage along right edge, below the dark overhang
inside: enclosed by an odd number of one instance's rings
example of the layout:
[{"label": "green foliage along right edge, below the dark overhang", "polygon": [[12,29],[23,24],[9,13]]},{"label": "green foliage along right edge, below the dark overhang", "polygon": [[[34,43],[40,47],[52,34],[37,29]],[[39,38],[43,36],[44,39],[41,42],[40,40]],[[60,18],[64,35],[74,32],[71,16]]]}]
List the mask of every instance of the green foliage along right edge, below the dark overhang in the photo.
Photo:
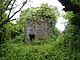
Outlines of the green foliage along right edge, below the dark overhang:
[{"label": "green foliage along right edge, below the dark overhang", "polygon": [[[69,17],[68,17],[69,16]],[[69,19],[66,30],[64,31],[64,45],[70,48],[71,60],[79,60],[80,56],[80,13],[73,14],[72,12],[67,13]],[[61,40],[62,40],[61,39]],[[77,54],[76,54],[77,53]],[[75,54],[75,55],[73,55]],[[69,59],[70,60],[70,59]]]}]

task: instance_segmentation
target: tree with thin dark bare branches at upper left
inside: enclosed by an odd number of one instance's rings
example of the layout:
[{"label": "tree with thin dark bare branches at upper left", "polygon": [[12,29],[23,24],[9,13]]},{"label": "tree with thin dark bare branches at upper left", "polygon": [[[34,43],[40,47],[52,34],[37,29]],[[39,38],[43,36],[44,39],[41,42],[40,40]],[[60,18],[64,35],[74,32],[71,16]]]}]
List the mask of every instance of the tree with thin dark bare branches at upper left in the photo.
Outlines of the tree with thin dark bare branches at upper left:
[{"label": "tree with thin dark bare branches at upper left", "polygon": [[[23,6],[27,3],[27,0],[22,3],[22,6],[19,8],[19,10],[15,11],[11,15],[11,11],[15,7],[15,3],[16,0],[0,0],[0,27],[11,21],[11,18],[23,8]],[[4,17],[6,11],[9,11],[9,13]]]}]

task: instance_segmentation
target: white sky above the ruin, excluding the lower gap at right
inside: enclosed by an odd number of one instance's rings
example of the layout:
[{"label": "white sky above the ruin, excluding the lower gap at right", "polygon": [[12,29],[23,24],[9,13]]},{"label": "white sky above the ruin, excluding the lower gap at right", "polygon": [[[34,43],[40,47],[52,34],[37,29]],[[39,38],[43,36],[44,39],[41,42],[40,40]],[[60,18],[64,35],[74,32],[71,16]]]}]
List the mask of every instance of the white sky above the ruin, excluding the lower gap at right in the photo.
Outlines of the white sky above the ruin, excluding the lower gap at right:
[{"label": "white sky above the ruin, excluding the lower gap at right", "polygon": [[[17,0],[17,5],[18,5],[18,4],[22,4],[23,1],[25,1],[25,0]],[[23,7],[22,10],[27,9],[28,7],[37,7],[37,6],[40,6],[40,5],[43,4],[43,3],[44,3],[44,4],[45,4],[45,3],[48,3],[48,5],[57,6],[57,8],[58,8],[59,11],[61,11],[61,10],[62,10],[62,7],[63,7],[63,6],[61,5],[61,3],[58,2],[58,0],[30,0],[30,2],[28,2],[28,3]],[[21,7],[21,5],[18,6],[18,7],[15,9],[15,11],[18,10],[20,7]],[[17,14],[14,16],[14,18],[19,17],[19,14],[20,14],[20,13],[17,13]]]}]

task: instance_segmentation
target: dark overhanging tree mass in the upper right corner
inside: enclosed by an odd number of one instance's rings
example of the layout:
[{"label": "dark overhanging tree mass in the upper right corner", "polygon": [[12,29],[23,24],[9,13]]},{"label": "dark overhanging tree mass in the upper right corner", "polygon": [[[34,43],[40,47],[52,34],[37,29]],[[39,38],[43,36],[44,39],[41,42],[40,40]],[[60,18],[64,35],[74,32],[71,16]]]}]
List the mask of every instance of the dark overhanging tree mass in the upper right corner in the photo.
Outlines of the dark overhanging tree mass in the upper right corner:
[{"label": "dark overhanging tree mass in the upper right corner", "polygon": [[80,13],[80,0],[58,0],[63,6],[64,11],[73,11],[73,13]]}]

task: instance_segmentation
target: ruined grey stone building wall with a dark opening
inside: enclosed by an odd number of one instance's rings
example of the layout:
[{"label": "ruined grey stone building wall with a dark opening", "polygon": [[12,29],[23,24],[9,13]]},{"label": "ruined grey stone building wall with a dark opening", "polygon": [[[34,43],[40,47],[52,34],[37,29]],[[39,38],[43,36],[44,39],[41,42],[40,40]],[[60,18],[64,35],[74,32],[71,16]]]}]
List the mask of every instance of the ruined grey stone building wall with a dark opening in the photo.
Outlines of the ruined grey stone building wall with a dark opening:
[{"label": "ruined grey stone building wall with a dark opening", "polygon": [[40,19],[38,22],[34,20],[27,20],[24,27],[25,42],[32,41],[34,39],[44,39],[52,34],[50,24]]}]

